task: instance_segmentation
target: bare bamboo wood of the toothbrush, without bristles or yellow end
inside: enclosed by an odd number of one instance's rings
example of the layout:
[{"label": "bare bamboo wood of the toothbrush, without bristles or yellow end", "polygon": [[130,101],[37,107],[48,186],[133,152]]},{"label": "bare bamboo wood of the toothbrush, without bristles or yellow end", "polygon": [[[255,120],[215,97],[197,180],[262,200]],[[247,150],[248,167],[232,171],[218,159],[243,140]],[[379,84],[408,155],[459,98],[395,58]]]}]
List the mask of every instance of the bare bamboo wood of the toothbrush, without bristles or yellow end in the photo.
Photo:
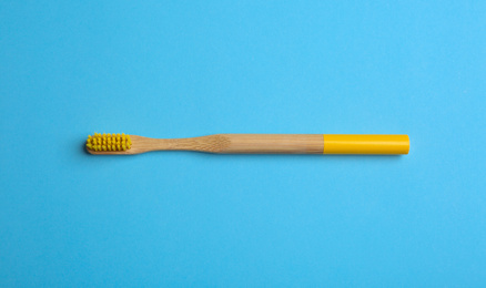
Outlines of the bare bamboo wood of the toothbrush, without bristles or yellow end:
[{"label": "bare bamboo wood of the toothbrush, without bristles or yellow end", "polygon": [[196,151],[232,154],[322,154],[322,134],[215,134],[190,138],[150,138],[130,135],[126,151],[92,151],[94,155],[132,155],[151,151]]}]

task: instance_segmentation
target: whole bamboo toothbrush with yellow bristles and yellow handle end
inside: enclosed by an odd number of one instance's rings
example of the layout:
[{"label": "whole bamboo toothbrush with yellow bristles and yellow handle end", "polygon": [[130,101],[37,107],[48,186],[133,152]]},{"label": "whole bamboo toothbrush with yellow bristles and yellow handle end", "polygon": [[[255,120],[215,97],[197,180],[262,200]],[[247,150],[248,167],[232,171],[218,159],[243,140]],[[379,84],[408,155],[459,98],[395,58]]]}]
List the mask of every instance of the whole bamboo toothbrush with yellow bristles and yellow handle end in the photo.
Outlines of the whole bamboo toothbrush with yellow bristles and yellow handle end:
[{"label": "whole bamboo toothbrush with yellow bristles and yellow handle end", "polygon": [[97,155],[151,151],[198,151],[221,154],[408,154],[407,135],[215,134],[190,138],[149,138],[125,134],[89,135],[87,150]]}]

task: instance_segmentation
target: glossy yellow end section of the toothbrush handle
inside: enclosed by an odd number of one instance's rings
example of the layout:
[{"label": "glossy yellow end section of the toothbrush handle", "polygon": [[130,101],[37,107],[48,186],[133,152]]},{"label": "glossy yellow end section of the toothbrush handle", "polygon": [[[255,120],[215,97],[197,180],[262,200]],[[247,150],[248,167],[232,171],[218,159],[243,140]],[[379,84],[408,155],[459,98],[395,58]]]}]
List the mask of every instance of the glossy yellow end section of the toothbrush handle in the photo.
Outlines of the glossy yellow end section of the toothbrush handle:
[{"label": "glossy yellow end section of the toothbrush handle", "polygon": [[324,154],[408,154],[408,135],[324,134]]}]

